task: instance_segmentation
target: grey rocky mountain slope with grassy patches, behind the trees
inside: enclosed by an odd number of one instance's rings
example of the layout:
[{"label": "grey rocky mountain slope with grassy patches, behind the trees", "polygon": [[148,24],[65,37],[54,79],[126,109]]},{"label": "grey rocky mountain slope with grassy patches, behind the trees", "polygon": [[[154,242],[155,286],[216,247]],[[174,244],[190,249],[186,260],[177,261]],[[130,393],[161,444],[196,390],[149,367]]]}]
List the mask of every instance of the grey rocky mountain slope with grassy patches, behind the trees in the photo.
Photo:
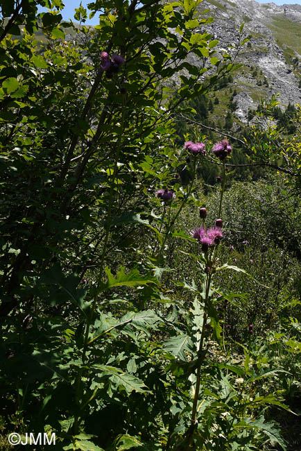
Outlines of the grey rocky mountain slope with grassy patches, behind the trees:
[{"label": "grey rocky mountain slope with grassy patches, behind the trees", "polygon": [[234,114],[246,121],[248,109],[256,109],[260,98],[279,92],[280,105],[301,103],[301,6],[257,3],[255,0],[204,0],[200,12],[214,17],[203,29],[220,42],[220,48],[239,40],[239,26],[250,35],[236,62]]}]

